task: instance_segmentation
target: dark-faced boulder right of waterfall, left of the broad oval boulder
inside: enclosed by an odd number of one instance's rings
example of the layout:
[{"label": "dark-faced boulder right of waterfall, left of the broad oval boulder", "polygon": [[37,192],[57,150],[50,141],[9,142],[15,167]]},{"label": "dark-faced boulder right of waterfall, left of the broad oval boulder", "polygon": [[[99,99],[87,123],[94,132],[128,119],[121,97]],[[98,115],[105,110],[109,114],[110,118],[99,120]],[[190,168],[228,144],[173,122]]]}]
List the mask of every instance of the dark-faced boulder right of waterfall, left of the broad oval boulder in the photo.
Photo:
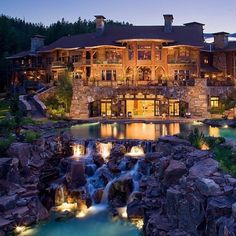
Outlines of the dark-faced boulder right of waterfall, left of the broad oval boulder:
[{"label": "dark-faced boulder right of waterfall, left of the broad oval boulder", "polygon": [[178,180],[187,173],[185,164],[181,161],[171,160],[165,170],[164,181],[169,184],[177,183]]}]

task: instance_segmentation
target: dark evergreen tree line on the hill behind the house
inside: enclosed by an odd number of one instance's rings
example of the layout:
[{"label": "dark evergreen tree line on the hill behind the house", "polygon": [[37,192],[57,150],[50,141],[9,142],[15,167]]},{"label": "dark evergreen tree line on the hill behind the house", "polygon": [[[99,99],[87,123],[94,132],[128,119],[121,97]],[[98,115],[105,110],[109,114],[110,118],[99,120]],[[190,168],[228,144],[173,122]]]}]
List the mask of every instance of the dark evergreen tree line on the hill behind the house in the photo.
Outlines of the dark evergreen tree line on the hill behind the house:
[{"label": "dark evergreen tree line on the hill behind the house", "polygon": [[[106,24],[129,24],[107,20]],[[0,91],[9,83],[10,64],[5,58],[17,52],[30,48],[30,39],[33,35],[45,36],[45,44],[74,34],[89,33],[95,30],[95,22],[78,18],[74,23],[65,21],[64,18],[49,26],[42,23],[30,23],[19,18],[0,15]]]}]

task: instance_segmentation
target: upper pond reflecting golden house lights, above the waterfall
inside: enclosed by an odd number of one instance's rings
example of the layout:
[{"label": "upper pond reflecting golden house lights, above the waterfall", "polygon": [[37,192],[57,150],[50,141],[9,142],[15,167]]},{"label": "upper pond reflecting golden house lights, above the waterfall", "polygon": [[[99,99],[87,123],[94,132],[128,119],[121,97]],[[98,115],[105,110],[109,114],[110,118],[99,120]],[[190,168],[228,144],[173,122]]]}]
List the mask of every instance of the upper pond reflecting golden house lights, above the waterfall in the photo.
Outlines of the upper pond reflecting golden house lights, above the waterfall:
[{"label": "upper pond reflecting golden house lights, above the waterfall", "polygon": [[156,140],[160,136],[186,133],[195,127],[199,128],[205,135],[236,139],[236,129],[211,127],[200,122],[170,124],[117,122],[104,124],[96,122],[72,126],[70,132],[74,137],[81,139],[117,138]]}]

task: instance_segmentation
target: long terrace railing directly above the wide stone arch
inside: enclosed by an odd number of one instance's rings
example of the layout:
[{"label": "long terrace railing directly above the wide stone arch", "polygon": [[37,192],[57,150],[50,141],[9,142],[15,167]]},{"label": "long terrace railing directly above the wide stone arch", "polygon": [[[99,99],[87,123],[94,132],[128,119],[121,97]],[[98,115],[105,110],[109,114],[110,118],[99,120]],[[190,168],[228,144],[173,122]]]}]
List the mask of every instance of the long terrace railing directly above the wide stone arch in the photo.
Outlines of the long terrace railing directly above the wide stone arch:
[{"label": "long terrace railing directly above the wide stone arch", "polygon": [[84,86],[97,86],[97,87],[135,87],[135,86],[165,86],[165,87],[177,87],[177,86],[194,86],[195,80],[188,79],[186,81],[173,81],[173,80],[122,80],[122,81],[104,81],[104,80],[88,80],[84,81]]}]

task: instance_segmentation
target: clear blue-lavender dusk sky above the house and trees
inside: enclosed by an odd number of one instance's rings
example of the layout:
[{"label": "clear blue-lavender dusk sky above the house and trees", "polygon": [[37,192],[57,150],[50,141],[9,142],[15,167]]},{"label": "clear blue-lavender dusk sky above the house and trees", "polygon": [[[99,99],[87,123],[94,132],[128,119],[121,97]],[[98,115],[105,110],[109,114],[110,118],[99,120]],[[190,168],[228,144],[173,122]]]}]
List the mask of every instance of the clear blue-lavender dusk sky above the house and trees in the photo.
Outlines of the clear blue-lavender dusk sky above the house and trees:
[{"label": "clear blue-lavender dusk sky above the house and trees", "polygon": [[162,25],[163,14],[174,24],[197,21],[205,33],[236,32],[236,0],[0,0],[0,14],[50,25],[64,18],[74,22],[94,15],[133,25]]}]

